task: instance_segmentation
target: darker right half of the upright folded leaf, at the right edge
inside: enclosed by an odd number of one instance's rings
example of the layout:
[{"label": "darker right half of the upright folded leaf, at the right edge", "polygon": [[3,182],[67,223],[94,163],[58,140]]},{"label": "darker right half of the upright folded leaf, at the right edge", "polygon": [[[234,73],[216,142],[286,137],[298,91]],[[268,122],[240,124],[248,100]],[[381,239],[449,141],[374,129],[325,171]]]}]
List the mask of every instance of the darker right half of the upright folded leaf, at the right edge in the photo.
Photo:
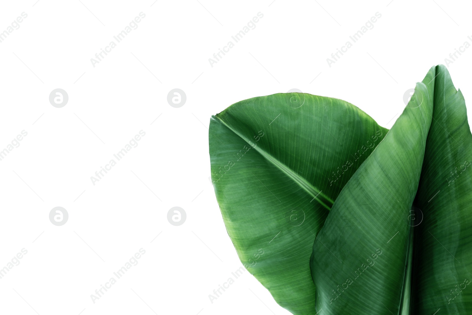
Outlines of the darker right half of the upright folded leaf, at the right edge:
[{"label": "darker right half of the upright folded leaf, at the right edge", "polygon": [[472,135],[447,68],[437,66],[436,75],[414,203],[422,221],[415,227],[412,314],[472,314]]}]

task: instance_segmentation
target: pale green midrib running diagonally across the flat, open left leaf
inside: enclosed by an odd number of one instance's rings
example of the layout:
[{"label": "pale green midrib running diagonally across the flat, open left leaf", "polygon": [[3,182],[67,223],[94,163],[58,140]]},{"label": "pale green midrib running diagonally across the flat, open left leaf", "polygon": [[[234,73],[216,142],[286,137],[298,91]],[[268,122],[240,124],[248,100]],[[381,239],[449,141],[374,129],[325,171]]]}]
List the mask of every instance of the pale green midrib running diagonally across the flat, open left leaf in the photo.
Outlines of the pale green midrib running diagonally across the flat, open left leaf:
[{"label": "pale green midrib running diagonally across the flat, open left leaf", "polygon": [[[217,116],[213,115],[211,116],[211,119],[215,119],[217,121],[219,121],[221,124],[223,124],[225,127],[227,127],[229,130],[231,130],[234,134],[236,134],[236,136],[239,136],[241,139],[243,139],[248,145],[249,144],[249,139],[242,135],[241,133],[239,133],[237,130],[235,130],[234,128],[232,128],[231,126],[229,126],[225,121],[223,121],[222,119],[218,118]],[[331,198],[329,198],[328,196],[326,196],[325,194],[322,193],[322,190],[320,190],[319,188],[317,187],[314,187],[312,184],[310,184],[306,179],[304,179],[303,177],[301,177],[299,174],[295,173],[294,170],[290,169],[287,165],[285,165],[284,163],[278,161],[275,157],[273,157],[272,155],[270,155],[270,153],[264,151],[261,149],[260,146],[255,146],[253,147],[251,145],[252,148],[254,148],[259,154],[262,155],[262,157],[264,157],[267,161],[269,161],[270,163],[272,163],[275,167],[277,167],[279,170],[281,170],[284,174],[286,174],[290,179],[292,179],[293,181],[295,181],[295,183],[300,186],[303,190],[305,190],[310,196],[312,196],[314,199],[316,199],[316,201],[321,204],[323,207],[325,207],[326,209],[328,210],[331,210],[331,207],[333,206],[333,203],[334,201],[331,200]],[[321,198],[324,199],[321,200]]]}]

